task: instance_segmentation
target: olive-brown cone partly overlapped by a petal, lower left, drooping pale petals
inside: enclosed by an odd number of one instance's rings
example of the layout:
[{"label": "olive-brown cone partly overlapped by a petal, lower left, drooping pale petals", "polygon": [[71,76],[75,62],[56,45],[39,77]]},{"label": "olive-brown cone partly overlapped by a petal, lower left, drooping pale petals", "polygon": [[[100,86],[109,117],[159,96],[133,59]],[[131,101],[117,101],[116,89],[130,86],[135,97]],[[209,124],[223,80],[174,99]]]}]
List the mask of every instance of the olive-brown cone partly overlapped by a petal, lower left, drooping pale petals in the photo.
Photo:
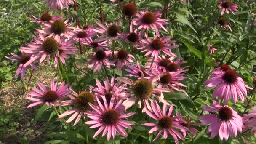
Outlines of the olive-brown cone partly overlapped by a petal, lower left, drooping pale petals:
[{"label": "olive-brown cone partly overlapped by a petal, lower left, drooping pale petals", "polygon": [[88,102],[92,103],[94,102],[94,95],[88,91],[81,92],[76,99],[76,106],[81,111],[88,111],[91,109]]}]

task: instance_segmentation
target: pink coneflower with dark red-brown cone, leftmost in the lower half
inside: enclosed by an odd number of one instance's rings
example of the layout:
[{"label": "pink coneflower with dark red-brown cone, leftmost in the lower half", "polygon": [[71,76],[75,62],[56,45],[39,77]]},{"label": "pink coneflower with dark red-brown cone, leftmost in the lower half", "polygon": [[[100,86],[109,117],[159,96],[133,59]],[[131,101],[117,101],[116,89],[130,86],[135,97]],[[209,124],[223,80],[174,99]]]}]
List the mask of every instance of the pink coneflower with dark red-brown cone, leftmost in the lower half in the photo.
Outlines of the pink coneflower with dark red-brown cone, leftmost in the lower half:
[{"label": "pink coneflower with dark red-brown cone, leftmost in the lower half", "polygon": [[49,90],[47,90],[47,88],[45,88],[45,86],[39,81],[37,81],[37,85],[41,91],[37,88],[31,87],[34,92],[29,92],[29,95],[32,97],[26,97],[26,99],[35,101],[35,103],[30,104],[27,106],[27,108],[35,107],[43,103],[47,104],[47,106],[51,104],[53,107],[55,107],[55,102],[59,103],[60,99],[65,98],[67,95],[69,95],[69,93],[71,93],[69,84],[65,85],[65,82],[62,82],[59,88],[57,88],[57,83],[54,84],[53,80],[51,80],[51,87]]}]

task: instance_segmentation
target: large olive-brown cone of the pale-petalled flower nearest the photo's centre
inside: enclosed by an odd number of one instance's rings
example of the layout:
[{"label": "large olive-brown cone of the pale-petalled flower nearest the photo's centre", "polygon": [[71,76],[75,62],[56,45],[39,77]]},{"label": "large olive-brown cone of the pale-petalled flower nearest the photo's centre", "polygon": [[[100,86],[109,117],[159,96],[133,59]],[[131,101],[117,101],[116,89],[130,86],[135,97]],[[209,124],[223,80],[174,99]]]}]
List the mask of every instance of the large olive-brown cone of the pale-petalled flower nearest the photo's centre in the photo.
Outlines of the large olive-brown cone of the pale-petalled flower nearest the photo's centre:
[{"label": "large olive-brown cone of the pale-petalled flower nearest the photo's centre", "polygon": [[147,79],[139,79],[133,85],[133,93],[138,99],[147,99],[152,93],[153,86]]}]

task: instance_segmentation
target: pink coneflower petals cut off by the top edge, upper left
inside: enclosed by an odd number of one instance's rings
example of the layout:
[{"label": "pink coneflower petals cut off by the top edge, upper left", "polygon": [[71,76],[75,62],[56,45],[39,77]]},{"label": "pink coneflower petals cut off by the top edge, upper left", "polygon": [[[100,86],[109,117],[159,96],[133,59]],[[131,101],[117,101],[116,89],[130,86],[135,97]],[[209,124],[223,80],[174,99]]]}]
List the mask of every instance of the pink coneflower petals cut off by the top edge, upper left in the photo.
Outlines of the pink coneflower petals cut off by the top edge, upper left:
[{"label": "pink coneflower petals cut off by the top edge, upper left", "polygon": [[69,5],[73,5],[73,0],[44,0],[48,7],[54,10],[62,10],[63,8],[69,8]]}]

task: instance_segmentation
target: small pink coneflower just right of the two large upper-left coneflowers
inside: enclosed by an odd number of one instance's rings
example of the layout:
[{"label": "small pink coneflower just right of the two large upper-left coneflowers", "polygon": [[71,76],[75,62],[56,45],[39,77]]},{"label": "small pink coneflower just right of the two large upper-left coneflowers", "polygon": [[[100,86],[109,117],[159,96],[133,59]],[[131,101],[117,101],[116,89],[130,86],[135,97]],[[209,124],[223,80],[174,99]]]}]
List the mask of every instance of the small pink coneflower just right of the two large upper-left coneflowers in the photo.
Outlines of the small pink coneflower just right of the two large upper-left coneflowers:
[{"label": "small pink coneflower just right of the two large upper-left coneflowers", "polygon": [[95,35],[95,32],[93,29],[88,29],[88,30],[84,30],[84,29],[80,29],[79,27],[77,27],[74,30],[75,33],[75,40],[80,41],[80,42],[87,42],[89,40],[89,38],[93,37]]}]

